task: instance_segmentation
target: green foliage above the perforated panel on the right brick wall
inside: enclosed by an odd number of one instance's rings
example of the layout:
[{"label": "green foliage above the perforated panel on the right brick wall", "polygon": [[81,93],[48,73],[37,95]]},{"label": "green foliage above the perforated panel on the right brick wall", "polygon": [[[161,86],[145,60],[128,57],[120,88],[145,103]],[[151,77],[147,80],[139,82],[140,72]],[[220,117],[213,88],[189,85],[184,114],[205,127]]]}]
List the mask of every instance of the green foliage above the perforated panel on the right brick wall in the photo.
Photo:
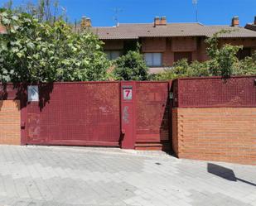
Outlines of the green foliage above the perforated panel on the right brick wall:
[{"label": "green foliage above the perforated panel on the right brick wall", "polygon": [[237,53],[242,46],[224,45],[220,46],[218,36],[230,31],[220,31],[208,38],[205,42],[208,45],[206,51],[210,60],[205,62],[194,61],[189,65],[187,60],[177,61],[173,67],[165,69],[153,79],[176,79],[190,76],[223,76],[230,75],[251,75],[256,74],[256,53],[252,57],[239,61]]}]

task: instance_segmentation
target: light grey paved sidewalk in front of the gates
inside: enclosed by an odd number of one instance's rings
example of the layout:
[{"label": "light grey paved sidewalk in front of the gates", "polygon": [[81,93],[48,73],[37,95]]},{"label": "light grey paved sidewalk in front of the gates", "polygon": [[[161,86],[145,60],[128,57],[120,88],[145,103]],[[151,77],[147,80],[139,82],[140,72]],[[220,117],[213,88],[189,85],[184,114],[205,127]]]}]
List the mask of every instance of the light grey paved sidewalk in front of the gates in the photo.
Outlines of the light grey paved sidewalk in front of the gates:
[{"label": "light grey paved sidewalk in front of the gates", "polygon": [[255,170],[161,151],[0,146],[0,205],[256,206]]}]

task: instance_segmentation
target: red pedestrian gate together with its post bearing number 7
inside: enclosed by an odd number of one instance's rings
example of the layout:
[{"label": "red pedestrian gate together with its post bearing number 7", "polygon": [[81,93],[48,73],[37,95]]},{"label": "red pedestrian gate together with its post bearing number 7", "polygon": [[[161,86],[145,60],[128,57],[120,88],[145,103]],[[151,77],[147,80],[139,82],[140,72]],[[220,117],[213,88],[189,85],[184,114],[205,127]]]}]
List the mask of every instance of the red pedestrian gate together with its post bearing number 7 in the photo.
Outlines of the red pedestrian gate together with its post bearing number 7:
[{"label": "red pedestrian gate together with its post bearing number 7", "polygon": [[[123,82],[122,147],[170,150],[171,82]],[[130,97],[127,95],[130,93]]]}]

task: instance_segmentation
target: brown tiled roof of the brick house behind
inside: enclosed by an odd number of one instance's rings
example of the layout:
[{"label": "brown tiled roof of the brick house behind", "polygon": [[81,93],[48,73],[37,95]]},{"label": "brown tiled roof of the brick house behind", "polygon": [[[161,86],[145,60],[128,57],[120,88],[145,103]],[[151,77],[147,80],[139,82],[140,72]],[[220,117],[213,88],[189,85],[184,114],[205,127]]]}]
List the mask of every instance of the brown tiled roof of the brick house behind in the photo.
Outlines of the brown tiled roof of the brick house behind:
[{"label": "brown tiled roof of the brick house behind", "polygon": [[119,26],[92,27],[91,30],[99,39],[138,39],[139,37],[173,37],[173,36],[206,36],[215,32],[230,30],[220,37],[256,37],[256,31],[244,27],[204,26],[200,23],[170,23],[167,26],[153,26],[152,23],[119,24]]}]

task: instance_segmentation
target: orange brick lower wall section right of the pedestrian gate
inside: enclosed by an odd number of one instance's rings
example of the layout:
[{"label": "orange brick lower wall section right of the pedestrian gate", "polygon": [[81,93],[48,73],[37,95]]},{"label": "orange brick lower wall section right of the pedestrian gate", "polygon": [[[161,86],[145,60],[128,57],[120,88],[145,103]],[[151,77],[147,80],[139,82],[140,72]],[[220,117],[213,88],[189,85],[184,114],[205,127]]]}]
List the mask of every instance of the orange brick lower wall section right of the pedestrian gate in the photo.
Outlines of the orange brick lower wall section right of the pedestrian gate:
[{"label": "orange brick lower wall section right of the pedestrian gate", "polygon": [[256,108],[175,108],[176,156],[256,165]]}]

